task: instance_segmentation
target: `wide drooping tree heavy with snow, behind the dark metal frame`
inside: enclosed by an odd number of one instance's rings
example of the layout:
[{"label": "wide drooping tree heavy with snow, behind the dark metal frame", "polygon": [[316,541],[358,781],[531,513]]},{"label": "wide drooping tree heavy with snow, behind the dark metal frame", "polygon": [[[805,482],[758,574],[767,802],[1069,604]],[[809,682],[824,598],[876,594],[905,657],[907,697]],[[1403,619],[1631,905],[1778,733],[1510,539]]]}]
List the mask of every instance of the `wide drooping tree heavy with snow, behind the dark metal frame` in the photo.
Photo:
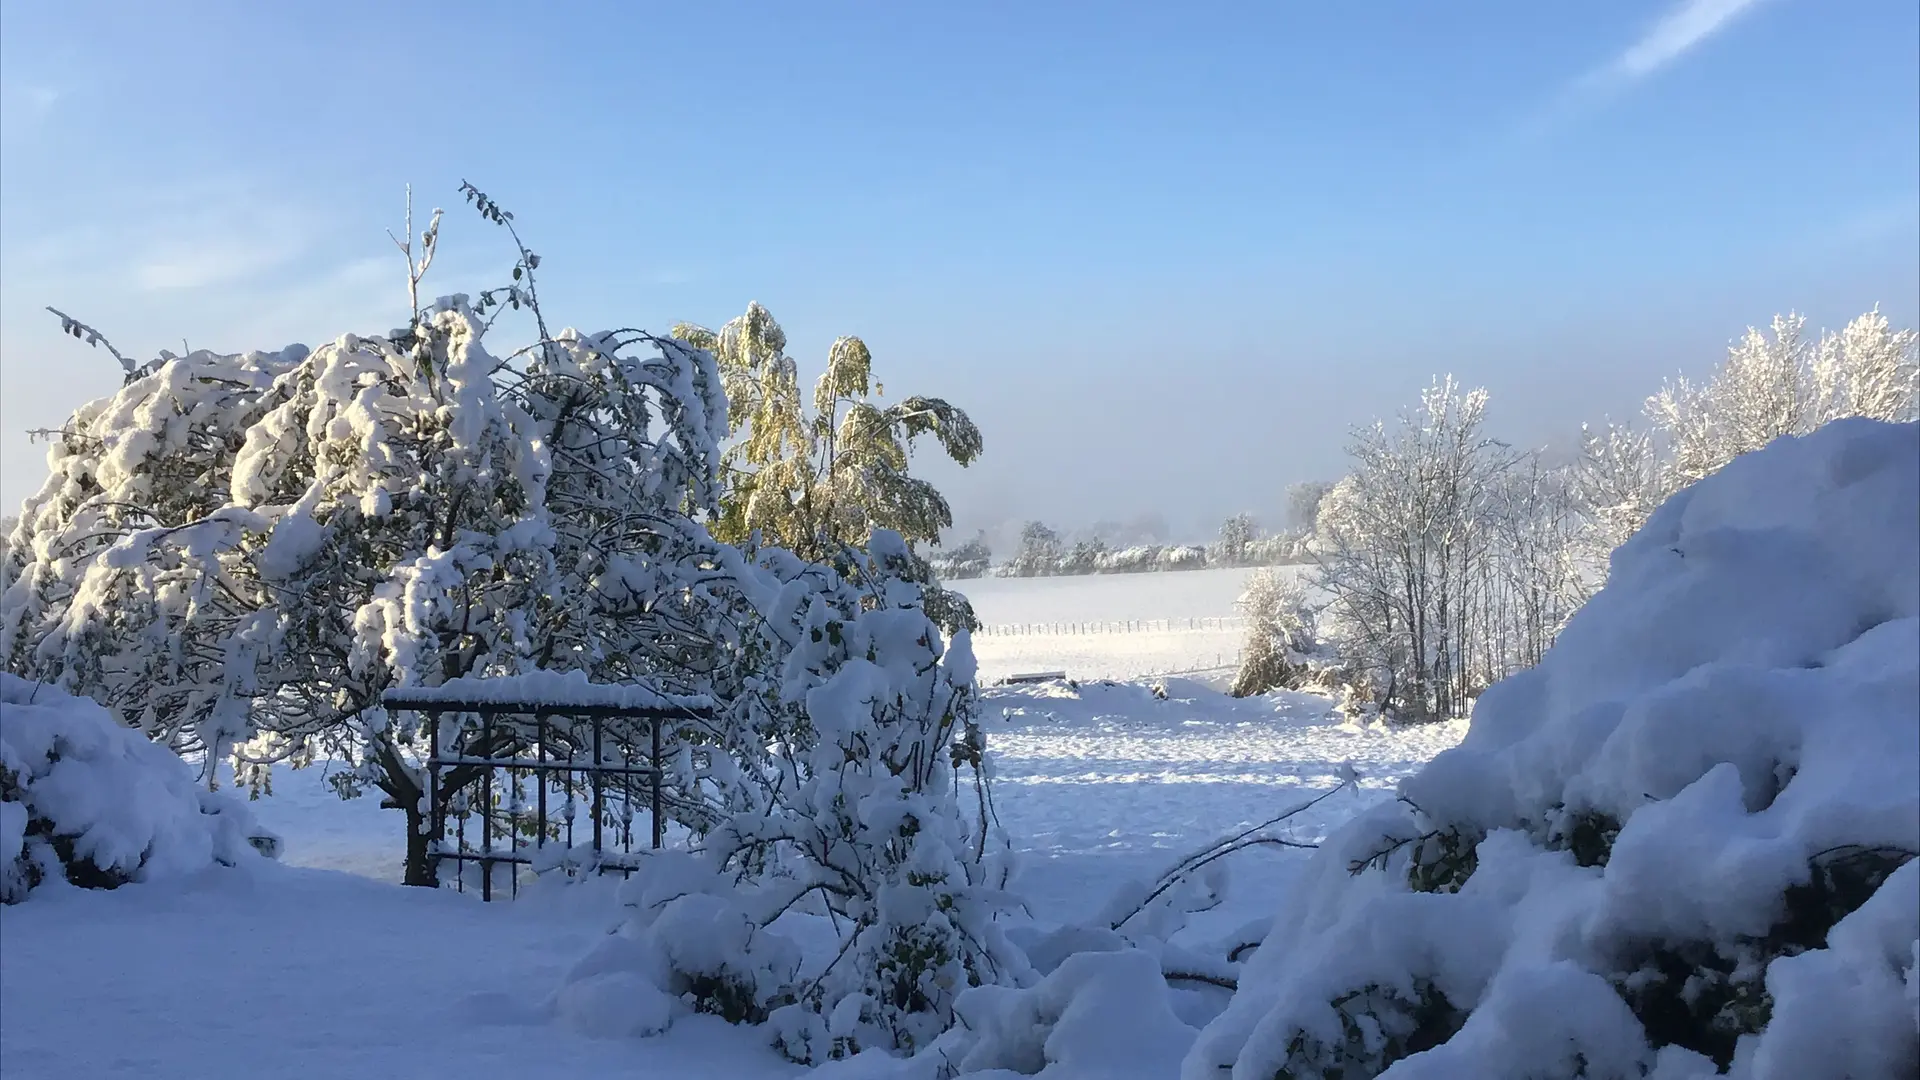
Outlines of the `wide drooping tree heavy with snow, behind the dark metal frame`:
[{"label": "wide drooping tree heavy with snow, behind the dark metal frame", "polygon": [[[522,248],[482,306],[538,313],[536,265]],[[407,813],[407,880],[430,882],[422,732],[378,707],[388,686],[722,665],[720,605],[689,592],[726,434],[712,359],[636,331],[495,357],[488,325],[455,296],[388,336],[161,356],[81,407],[0,563],[10,671],[209,771],[346,757],[344,794]]]}]

